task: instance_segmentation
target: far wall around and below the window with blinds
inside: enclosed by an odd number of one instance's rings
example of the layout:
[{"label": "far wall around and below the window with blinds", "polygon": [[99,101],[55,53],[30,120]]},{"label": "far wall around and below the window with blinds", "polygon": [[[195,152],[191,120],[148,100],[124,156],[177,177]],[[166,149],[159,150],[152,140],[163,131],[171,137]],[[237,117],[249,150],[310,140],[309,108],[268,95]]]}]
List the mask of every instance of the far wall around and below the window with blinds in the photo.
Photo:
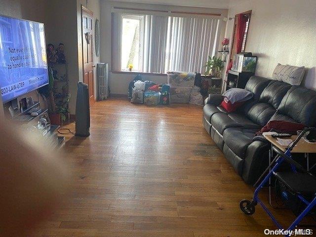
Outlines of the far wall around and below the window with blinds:
[{"label": "far wall around and below the window with blinds", "polygon": [[[111,65],[111,7],[127,7],[138,9],[153,9],[153,10],[173,10],[183,12],[203,12],[203,13],[217,13],[222,16],[227,16],[227,9],[218,8],[200,8],[200,7],[186,7],[186,6],[171,6],[171,5],[157,5],[144,3],[130,3],[118,1],[101,0],[101,61],[107,62]],[[225,24],[223,24],[224,35]],[[110,67],[111,68],[111,67]],[[113,74],[110,73],[110,90],[112,94],[126,94],[128,83],[135,78],[135,74]],[[156,83],[165,83],[166,76],[142,76],[143,79],[152,80]]]}]

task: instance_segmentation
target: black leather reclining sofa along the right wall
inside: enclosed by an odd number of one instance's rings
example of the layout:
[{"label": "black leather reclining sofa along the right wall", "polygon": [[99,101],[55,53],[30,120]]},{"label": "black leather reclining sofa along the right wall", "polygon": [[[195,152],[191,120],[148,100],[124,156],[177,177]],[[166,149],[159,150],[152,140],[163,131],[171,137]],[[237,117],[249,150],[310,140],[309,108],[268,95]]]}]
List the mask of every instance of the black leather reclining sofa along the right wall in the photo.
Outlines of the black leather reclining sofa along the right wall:
[{"label": "black leather reclining sofa along the right wall", "polygon": [[316,125],[316,91],[253,76],[245,86],[254,97],[228,113],[221,95],[210,94],[203,107],[203,125],[237,173],[253,184],[268,166],[270,144],[255,133],[271,120]]}]

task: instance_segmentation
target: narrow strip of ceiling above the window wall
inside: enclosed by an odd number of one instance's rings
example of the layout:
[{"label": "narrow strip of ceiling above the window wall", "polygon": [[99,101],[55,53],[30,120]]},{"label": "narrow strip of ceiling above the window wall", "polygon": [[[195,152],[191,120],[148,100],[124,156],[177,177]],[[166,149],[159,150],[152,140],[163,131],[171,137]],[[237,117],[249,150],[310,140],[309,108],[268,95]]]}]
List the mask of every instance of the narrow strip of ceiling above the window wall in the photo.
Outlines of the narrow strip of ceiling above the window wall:
[{"label": "narrow strip of ceiling above the window wall", "polygon": [[228,9],[230,0],[120,0],[120,1]]}]

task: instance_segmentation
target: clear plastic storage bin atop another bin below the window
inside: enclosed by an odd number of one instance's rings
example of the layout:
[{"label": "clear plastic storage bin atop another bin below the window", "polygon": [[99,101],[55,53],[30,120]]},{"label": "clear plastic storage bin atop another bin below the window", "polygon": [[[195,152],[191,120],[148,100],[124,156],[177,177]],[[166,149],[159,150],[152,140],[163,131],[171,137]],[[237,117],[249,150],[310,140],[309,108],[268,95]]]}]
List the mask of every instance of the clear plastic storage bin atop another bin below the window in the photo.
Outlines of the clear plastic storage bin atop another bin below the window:
[{"label": "clear plastic storage bin atop another bin below the window", "polygon": [[195,73],[167,72],[167,82],[170,86],[193,87],[196,79]]}]

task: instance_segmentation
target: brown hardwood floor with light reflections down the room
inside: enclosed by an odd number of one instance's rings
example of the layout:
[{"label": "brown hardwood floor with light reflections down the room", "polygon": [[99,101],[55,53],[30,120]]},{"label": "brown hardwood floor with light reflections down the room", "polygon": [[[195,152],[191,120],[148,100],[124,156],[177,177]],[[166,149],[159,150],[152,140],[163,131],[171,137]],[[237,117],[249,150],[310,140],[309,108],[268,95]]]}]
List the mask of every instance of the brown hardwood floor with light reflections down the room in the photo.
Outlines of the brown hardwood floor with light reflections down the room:
[{"label": "brown hardwood floor with light reflections down the room", "polygon": [[[254,237],[275,230],[202,126],[202,107],[114,98],[91,108],[90,137],[67,135],[74,190],[35,236]],[[74,124],[65,126],[75,129]],[[266,194],[264,194],[264,197]],[[293,215],[274,210],[282,224]]]}]

